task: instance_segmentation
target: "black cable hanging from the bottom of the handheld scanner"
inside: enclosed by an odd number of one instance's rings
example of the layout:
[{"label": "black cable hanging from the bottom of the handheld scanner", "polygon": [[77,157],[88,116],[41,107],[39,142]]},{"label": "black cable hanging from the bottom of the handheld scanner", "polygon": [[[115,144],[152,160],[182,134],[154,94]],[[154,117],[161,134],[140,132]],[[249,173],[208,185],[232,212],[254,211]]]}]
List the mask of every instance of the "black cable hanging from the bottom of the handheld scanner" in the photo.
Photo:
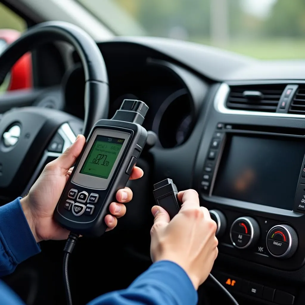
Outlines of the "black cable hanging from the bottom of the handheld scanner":
[{"label": "black cable hanging from the bottom of the handheld scanner", "polygon": [[70,254],[72,253],[74,246],[77,242],[78,237],[79,237],[78,234],[70,233],[66,241],[66,245],[63,248],[63,251],[65,252],[63,256],[63,281],[65,285],[66,300],[68,305],[72,305],[72,297],[71,297],[69,276],[68,276],[68,261]]}]

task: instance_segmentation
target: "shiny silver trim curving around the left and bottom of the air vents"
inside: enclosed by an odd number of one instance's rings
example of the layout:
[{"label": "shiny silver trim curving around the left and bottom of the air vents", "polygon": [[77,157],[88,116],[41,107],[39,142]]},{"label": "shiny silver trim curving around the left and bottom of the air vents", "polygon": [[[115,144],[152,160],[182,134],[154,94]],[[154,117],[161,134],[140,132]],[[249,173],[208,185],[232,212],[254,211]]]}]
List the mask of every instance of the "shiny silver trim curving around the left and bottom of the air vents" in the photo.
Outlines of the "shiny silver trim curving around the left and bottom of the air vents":
[{"label": "shiny silver trim curving around the left and bottom of the air vents", "polygon": [[[295,82],[291,82],[294,84]],[[287,83],[287,85],[289,82]],[[252,115],[252,116],[262,116],[262,117],[290,117],[304,119],[303,114],[292,114],[292,113],[279,113],[279,112],[260,112],[260,111],[247,111],[247,110],[237,110],[228,109],[226,107],[226,101],[230,93],[230,87],[226,83],[222,83],[214,98],[214,108],[217,112],[224,114],[237,114],[237,115]]]}]

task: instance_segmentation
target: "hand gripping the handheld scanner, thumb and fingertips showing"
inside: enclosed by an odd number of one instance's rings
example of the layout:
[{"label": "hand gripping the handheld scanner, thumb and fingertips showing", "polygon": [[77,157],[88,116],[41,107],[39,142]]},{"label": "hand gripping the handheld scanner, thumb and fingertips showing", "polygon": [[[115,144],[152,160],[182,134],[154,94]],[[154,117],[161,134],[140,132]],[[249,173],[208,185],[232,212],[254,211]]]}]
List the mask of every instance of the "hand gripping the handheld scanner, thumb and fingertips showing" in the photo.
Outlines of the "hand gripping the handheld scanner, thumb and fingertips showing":
[{"label": "hand gripping the handheld scanner, thumb and fingertips showing", "polygon": [[[68,238],[69,231],[54,221],[53,212],[72,172],[71,166],[80,155],[84,144],[84,136],[78,135],[75,142],[61,156],[45,166],[27,196],[20,200],[23,212],[37,242]],[[138,179],[142,176],[143,170],[134,167],[130,179]],[[116,194],[116,199],[120,203],[111,203],[109,211],[112,215],[105,216],[107,231],[113,229],[117,225],[117,218],[126,213],[126,207],[123,203],[132,199],[131,189],[127,187],[120,189]]]}]

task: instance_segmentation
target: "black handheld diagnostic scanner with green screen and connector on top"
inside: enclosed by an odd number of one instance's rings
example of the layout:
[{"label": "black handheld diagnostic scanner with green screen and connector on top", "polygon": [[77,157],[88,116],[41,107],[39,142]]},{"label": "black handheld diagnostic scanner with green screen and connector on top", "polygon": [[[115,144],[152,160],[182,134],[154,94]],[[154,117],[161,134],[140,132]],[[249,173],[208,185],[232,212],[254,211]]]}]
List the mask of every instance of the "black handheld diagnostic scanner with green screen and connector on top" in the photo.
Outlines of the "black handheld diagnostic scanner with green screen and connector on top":
[{"label": "black handheld diagnostic scanner with green screen and connector on top", "polygon": [[148,106],[124,100],[111,120],[92,128],[54,211],[55,220],[71,232],[100,236],[116,192],[124,188],[147,138],[141,124]]}]

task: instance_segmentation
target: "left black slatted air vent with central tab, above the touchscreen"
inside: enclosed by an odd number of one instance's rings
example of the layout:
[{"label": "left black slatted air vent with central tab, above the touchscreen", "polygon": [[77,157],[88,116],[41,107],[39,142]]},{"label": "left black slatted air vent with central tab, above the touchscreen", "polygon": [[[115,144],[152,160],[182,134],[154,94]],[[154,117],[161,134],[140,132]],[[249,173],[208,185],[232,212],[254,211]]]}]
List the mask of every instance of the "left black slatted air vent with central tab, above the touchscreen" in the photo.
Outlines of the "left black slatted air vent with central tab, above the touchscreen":
[{"label": "left black slatted air vent with central tab, above the touchscreen", "polygon": [[230,86],[226,106],[229,109],[275,112],[285,87],[285,84]]}]

